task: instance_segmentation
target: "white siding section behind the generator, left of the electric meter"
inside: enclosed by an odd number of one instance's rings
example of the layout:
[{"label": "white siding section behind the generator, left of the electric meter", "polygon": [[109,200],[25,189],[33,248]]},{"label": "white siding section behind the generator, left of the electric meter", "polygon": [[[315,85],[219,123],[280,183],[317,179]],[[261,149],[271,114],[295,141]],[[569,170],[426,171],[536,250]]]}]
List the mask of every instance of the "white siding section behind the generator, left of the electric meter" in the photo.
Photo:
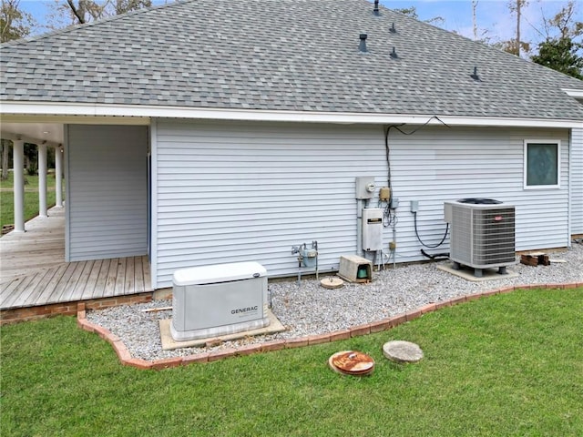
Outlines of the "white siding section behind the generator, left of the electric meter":
[{"label": "white siding section behind the generator, left of the electric meter", "polygon": [[158,273],[256,260],[297,272],[292,246],[320,245],[321,269],[356,250],[354,178],[384,175],[382,127],[158,123]]}]

